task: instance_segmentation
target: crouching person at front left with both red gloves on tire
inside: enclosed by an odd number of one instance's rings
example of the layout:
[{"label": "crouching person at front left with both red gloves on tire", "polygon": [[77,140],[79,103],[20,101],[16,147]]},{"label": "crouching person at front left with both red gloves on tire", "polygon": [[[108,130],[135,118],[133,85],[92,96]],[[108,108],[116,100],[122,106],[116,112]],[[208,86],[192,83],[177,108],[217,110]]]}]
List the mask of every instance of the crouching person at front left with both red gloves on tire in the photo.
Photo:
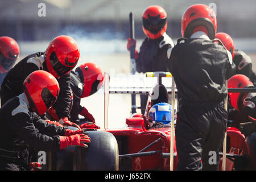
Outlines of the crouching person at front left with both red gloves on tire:
[{"label": "crouching person at front left with both red gloves on tire", "polygon": [[23,85],[24,92],[0,109],[0,170],[29,170],[30,147],[44,151],[75,145],[88,147],[90,138],[82,130],[51,125],[38,116],[57,100],[60,87],[55,77],[46,71],[35,71]]}]

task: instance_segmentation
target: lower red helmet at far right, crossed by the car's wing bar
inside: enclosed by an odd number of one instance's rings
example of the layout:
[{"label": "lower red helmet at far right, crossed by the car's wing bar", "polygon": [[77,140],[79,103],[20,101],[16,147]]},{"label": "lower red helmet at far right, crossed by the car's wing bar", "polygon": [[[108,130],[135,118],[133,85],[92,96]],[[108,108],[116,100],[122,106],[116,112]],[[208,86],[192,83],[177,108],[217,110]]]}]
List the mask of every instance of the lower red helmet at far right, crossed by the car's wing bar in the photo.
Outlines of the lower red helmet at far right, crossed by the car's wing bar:
[{"label": "lower red helmet at far right, crossed by the car's wing bar", "polygon": [[[245,75],[234,75],[228,80],[228,88],[248,88],[254,86],[250,79]],[[241,109],[242,97],[244,93],[229,92],[231,105],[236,110]]]}]

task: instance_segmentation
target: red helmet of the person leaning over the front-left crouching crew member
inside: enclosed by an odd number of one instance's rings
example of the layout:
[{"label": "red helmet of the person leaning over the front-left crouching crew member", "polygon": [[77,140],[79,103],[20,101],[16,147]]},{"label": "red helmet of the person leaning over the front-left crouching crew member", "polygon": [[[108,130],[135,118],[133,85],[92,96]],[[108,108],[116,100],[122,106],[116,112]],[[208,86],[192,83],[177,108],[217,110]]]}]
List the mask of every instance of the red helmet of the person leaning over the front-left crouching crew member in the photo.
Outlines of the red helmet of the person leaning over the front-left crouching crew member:
[{"label": "red helmet of the person leaning over the front-left crouching crew member", "polygon": [[69,36],[57,36],[46,49],[46,65],[53,76],[62,77],[76,66],[80,50],[74,39]]}]

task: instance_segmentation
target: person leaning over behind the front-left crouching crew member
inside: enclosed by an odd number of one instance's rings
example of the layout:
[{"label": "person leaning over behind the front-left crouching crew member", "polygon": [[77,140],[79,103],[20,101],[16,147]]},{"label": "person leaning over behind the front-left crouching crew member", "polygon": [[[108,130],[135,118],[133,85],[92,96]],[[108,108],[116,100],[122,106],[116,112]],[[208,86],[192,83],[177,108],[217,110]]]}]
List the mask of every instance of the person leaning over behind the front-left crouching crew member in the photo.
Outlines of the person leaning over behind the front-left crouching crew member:
[{"label": "person leaning over behind the front-left crouching crew member", "polygon": [[30,73],[44,70],[57,78],[60,96],[53,106],[63,125],[72,125],[69,107],[71,87],[69,72],[76,66],[80,50],[74,39],[61,35],[49,43],[46,52],[36,52],[20,60],[6,75],[1,86],[1,105],[23,92],[23,81]]}]

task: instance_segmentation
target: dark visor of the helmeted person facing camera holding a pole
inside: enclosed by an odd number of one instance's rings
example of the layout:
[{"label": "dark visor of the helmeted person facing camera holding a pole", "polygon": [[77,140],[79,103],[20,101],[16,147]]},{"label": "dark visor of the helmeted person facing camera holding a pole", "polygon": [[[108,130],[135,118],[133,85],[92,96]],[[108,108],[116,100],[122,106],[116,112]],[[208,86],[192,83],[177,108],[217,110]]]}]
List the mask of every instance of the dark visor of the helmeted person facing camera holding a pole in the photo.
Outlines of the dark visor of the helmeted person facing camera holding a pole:
[{"label": "dark visor of the helmeted person facing camera holding a pole", "polygon": [[160,19],[159,16],[150,16],[148,19],[143,18],[143,26],[152,34],[157,34],[166,25],[166,18]]}]

